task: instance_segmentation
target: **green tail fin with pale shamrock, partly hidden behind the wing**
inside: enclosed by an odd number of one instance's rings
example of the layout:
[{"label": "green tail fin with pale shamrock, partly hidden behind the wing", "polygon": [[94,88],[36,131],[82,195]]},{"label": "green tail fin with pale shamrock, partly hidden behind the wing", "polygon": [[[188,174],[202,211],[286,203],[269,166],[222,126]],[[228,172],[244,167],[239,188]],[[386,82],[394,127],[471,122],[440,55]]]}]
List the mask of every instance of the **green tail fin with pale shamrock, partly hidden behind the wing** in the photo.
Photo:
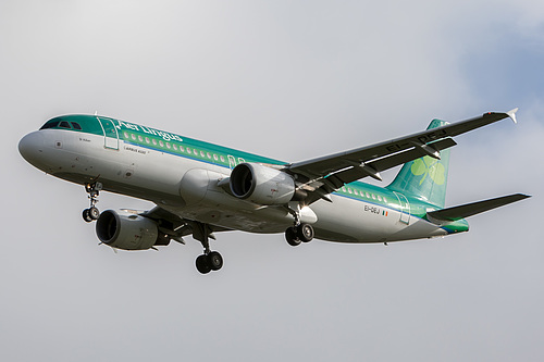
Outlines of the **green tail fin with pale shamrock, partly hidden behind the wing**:
[{"label": "green tail fin with pale shamrock, partly hidden behind the wing", "polygon": [[[447,124],[433,120],[426,129]],[[438,208],[446,202],[447,173],[449,166],[449,149],[440,152],[441,160],[425,155],[405,163],[393,183],[387,186],[392,191],[416,197]]]}]

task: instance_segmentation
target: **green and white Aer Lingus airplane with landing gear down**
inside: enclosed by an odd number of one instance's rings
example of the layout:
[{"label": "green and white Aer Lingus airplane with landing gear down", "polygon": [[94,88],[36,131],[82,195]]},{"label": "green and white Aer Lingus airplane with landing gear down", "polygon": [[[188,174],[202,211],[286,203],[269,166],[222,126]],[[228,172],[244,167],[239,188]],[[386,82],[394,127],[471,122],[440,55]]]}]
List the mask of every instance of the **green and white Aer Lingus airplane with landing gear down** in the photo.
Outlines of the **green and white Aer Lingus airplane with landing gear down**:
[{"label": "green and white Aer Lingus airplane with landing gear down", "polygon": [[[100,244],[148,250],[201,242],[196,267],[223,266],[210,239],[227,230],[284,233],[290,246],[313,238],[383,242],[468,232],[466,217],[530,196],[514,194],[445,208],[453,137],[516,112],[489,112],[467,121],[433,120],[426,130],[301,162],[283,162],[101,115],[71,114],[24,136],[21,155],[46,174],[84,185]],[[379,187],[381,172],[401,166]],[[148,211],[96,207],[100,191],[151,201]]]}]

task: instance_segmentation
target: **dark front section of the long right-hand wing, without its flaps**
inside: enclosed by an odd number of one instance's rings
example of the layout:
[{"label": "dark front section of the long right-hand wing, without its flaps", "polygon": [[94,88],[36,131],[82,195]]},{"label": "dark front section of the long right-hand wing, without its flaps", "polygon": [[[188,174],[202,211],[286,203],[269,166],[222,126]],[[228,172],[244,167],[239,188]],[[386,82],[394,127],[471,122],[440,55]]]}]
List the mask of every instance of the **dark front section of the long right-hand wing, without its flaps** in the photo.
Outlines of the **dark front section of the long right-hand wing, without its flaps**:
[{"label": "dark front section of the long right-hand wing, without its flaps", "polygon": [[317,159],[295,162],[286,166],[286,171],[294,174],[302,174],[308,177],[324,177],[332,172],[353,166],[354,162],[368,163],[369,161],[394,154],[416,145],[428,145],[446,137],[455,137],[463,133],[486,126],[504,118],[511,118],[516,122],[514,109],[506,113],[489,112],[479,117],[447,124],[441,127],[419,132],[412,135],[395,138],[392,140],[353,149],[345,152],[334,153]]}]

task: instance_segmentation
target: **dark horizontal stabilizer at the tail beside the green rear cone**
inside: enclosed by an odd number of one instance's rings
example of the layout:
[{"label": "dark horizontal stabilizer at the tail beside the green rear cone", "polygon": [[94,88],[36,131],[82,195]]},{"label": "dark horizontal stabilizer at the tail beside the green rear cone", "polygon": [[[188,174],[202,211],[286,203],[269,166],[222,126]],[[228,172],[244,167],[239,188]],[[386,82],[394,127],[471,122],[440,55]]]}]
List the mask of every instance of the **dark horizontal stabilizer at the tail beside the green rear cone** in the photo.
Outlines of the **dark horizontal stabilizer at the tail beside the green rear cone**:
[{"label": "dark horizontal stabilizer at the tail beside the green rear cone", "polygon": [[460,219],[469,217],[527,198],[530,198],[530,196],[522,194],[515,194],[491,200],[478,201],[478,202],[462,204],[459,207],[431,211],[428,212],[426,215],[429,216],[430,221],[454,222]]}]

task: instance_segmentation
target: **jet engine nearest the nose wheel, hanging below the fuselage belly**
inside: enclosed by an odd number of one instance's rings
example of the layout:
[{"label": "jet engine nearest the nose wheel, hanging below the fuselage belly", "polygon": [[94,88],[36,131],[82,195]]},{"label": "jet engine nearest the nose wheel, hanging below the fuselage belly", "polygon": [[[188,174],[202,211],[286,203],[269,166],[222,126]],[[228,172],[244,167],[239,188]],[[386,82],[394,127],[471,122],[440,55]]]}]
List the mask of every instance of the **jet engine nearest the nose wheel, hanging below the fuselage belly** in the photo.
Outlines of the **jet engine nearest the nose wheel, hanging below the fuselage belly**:
[{"label": "jet engine nearest the nose wheel, hanging below the fuselage belly", "polygon": [[97,220],[96,232],[100,241],[123,250],[147,250],[170,242],[153,221],[126,211],[103,211]]}]

